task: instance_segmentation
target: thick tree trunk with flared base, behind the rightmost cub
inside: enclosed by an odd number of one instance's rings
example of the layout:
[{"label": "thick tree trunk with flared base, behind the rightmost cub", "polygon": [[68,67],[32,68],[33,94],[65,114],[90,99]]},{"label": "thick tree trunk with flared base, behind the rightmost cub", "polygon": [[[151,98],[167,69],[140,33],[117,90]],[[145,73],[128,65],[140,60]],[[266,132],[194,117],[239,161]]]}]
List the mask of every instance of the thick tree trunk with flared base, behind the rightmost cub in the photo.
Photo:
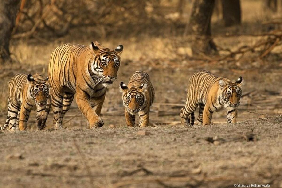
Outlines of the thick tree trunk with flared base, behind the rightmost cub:
[{"label": "thick tree trunk with flared base, behind the rightmost cub", "polygon": [[193,3],[192,13],[188,25],[188,33],[194,35],[192,41],[193,54],[210,54],[217,51],[211,39],[211,15],[215,0],[197,0]]}]

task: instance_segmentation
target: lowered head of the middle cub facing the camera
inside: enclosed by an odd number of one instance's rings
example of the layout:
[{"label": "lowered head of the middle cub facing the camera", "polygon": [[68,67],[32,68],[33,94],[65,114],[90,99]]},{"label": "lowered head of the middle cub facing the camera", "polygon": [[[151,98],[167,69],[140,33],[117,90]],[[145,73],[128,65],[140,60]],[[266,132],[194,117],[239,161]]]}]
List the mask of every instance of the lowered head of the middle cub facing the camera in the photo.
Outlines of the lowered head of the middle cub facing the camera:
[{"label": "lowered head of the middle cub facing the camera", "polygon": [[120,91],[123,99],[123,106],[129,113],[137,113],[146,102],[145,93],[147,91],[147,84],[143,83],[139,87],[133,86],[128,88],[124,82],[120,82]]}]

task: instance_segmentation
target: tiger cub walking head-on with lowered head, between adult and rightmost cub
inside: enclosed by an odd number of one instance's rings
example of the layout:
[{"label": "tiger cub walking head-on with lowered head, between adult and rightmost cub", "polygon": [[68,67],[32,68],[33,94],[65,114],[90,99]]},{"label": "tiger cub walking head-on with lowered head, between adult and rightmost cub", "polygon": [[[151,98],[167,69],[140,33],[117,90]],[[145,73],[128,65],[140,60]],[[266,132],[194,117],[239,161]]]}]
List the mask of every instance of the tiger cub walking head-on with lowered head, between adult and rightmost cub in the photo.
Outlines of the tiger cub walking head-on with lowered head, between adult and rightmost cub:
[{"label": "tiger cub walking head-on with lowered head, between adult and rightmost cub", "polygon": [[155,98],[155,91],[149,75],[144,71],[136,71],[129,79],[128,85],[120,82],[123,93],[124,115],[128,127],[135,126],[135,114],[139,115],[139,127],[149,124],[149,111]]}]

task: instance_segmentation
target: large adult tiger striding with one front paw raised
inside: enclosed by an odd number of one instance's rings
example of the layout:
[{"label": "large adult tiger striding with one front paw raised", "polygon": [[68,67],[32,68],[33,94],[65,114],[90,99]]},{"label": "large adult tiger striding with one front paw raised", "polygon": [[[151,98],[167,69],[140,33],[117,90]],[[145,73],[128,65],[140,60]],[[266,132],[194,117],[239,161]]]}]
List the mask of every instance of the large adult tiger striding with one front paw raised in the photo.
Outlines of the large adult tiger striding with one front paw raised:
[{"label": "large adult tiger striding with one front paw raised", "polygon": [[96,41],[89,46],[63,44],[52,52],[48,73],[54,127],[63,127],[63,117],[75,93],[78,108],[89,127],[103,126],[99,115],[106,88],[117,78],[122,50],[122,45],[111,50]]}]

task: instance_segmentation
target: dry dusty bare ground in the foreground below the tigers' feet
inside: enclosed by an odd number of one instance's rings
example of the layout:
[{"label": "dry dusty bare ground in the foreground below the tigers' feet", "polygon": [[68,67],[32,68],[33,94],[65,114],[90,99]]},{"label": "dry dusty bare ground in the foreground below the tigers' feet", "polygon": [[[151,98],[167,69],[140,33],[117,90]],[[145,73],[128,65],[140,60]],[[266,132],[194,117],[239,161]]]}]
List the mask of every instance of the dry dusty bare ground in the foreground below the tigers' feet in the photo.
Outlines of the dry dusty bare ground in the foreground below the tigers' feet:
[{"label": "dry dusty bare ground in the foreground below the tigers' feet", "polygon": [[[0,187],[279,187],[281,122],[165,126],[146,128],[147,136],[138,128],[2,133]],[[250,133],[252,141],[245,140]]]}]

